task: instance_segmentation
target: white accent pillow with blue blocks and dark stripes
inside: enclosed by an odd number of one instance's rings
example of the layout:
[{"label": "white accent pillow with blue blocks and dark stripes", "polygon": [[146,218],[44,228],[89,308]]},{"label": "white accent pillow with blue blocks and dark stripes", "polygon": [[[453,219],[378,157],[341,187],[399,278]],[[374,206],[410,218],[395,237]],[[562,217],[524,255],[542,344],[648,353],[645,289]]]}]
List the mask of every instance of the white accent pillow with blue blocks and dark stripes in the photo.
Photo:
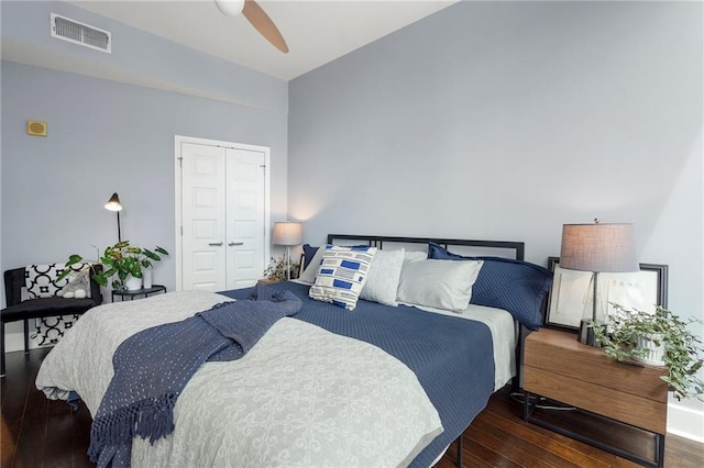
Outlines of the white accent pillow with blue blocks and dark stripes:
[{"label": "white accent pillow with blue blocks and dark stripes", "polygon": [[376,247],[328,245],[308,296],[349,311],[354,310],[374,254]]}]

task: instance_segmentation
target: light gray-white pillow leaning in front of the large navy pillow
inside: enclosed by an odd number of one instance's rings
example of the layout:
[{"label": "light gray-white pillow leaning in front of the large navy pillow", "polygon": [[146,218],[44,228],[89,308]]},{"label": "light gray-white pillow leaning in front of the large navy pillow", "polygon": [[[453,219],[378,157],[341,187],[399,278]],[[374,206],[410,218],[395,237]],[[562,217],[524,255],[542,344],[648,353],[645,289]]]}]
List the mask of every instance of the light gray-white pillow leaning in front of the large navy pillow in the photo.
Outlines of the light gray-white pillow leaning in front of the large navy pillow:
[{"label": "light gray-white pillow leaning in front of the large navy pillow", "polygon": [[398,283],[398,302],[462,312],[470,303],[482,264],[435,259],[407,263]]}]

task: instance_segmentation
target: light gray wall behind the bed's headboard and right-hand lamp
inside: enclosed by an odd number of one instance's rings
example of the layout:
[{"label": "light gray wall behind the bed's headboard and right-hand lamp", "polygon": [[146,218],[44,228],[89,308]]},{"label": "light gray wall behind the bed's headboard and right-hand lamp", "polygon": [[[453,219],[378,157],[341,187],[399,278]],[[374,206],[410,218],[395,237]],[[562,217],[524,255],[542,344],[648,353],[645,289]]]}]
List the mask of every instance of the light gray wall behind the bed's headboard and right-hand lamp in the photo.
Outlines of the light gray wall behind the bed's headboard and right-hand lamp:
[{"label": "light gray wall behind the bed's headboard and right-hand lamp", "polygon": [[702,13],[460,2],[304,75],[290,218],[314,244],[525,241],[542,265],[563,223],[632,222],[639,259],[670,266],[671,309],[702,317]]}]

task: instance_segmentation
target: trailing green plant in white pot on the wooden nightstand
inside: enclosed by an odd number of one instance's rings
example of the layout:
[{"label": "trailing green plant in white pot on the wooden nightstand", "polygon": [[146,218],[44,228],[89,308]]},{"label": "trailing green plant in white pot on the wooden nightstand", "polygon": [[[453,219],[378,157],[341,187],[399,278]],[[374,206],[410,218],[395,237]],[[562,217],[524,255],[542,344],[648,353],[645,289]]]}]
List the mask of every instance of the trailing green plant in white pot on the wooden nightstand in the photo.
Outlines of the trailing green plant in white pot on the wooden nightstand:
[{"label": "trailing green plant in white pot on the wooden nightstand", "polygon": [[695,397],[704,401],[704,382],[696,375],[704,365],[704,348],[702,341],[689,330],[691,323],[702,321],[694,317],[683,321],[660,305],[654,313],[612,305],[615,313],[606,324],[590,323],[604,353],[617,360],[635,359],[664,366],[668,375],[661,379],[674,392],[674,398]]}]

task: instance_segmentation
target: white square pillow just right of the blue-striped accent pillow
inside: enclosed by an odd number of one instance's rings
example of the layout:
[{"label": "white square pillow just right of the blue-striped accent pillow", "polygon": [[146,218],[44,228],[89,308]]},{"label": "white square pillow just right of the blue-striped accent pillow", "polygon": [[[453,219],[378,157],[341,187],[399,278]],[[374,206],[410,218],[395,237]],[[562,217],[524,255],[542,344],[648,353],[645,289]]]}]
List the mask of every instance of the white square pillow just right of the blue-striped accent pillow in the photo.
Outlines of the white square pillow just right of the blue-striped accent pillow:
[{"label": "white square pillow just right of the blue-striped accent pillow", "polygon": [[404,265],[404,249],[377,250],[360,299],[378,302],[384,305],[398,305],[396,291]]}]

